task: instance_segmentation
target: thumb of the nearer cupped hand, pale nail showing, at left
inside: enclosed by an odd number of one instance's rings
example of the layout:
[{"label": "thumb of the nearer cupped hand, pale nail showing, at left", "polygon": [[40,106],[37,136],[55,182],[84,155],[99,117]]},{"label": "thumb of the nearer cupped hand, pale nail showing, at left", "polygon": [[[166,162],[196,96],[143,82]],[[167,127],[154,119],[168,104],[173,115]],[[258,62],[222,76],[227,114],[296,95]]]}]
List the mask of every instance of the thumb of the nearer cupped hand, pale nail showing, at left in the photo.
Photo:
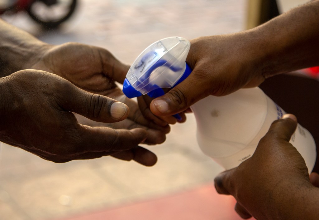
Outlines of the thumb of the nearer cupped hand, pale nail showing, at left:
[{"label": "thumb of the nearer cupped hand, pale nail showing, at left", "polygon": [[[60,106],[97,122],[118,122],[130,113],[127,105],[106,96],[86,92],[72,83],[63,86],[60,92]],[[70,88],[71,87],[71,88]]]}]

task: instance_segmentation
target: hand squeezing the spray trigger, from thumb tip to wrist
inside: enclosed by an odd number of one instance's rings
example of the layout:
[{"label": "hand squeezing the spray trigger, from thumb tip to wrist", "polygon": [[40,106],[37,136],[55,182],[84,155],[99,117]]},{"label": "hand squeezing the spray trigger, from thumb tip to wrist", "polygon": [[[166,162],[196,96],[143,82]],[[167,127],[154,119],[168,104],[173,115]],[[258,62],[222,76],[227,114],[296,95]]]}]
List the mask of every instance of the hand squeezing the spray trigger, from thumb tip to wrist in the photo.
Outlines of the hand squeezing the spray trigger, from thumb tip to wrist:
[{"label": "hand squeezing the spray trigger, from thumb tip to wrist", "polygon": [[173,115],[208,95],[223,96],[262,83],[264,76],[256,65],[257,56],[249,47],[251,37],[240,32],[191,40],[186,62],[192,73],[168,93],[154,99],[150,106],[152,113]]}]

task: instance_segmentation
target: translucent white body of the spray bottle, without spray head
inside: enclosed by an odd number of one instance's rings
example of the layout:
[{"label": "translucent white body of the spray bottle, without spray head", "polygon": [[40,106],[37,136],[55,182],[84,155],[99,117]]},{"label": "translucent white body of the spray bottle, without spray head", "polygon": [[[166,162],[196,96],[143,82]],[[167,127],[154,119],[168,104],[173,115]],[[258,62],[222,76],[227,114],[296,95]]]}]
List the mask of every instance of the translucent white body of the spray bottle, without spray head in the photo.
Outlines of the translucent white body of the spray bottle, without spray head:
[{"label": "translucent white body of the spray bottle, without spray head", "polygon": [[[285,114],[261,89],[241,89],[230,95],[208,96],[193,106],[201,150],[225,169],[250,158],[271,123]],[[298,124],[290,143],[306,161],[309,172],[316,160],[315,141]]]}]

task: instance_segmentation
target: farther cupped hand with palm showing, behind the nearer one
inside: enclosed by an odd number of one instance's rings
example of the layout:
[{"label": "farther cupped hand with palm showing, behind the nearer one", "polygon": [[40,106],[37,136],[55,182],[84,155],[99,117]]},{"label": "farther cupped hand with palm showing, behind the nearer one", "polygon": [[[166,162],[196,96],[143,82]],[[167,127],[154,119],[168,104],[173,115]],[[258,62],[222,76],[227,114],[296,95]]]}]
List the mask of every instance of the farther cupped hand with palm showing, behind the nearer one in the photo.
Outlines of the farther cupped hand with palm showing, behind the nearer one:
[{"label": "farther cupped hand with palm showing, behind the nearer one", "polygon": [[[130,108],[127,119],[117,123],[99,124],[99,126],[116,129],[147,129],[149,133],[145,140],[147,144],[164,142],[165,134],[170,130],[167,123],[157,124],[146,119],[138,109],[137,103],[125,97],[115,82],[123,83],[129,66],[122,64],[103,48],[81,43],[48,45],[41,59],[30,68],[59,75],[83,90],[113,98]],[[83,117],[81,121],[97,126],[96,123]]]}]

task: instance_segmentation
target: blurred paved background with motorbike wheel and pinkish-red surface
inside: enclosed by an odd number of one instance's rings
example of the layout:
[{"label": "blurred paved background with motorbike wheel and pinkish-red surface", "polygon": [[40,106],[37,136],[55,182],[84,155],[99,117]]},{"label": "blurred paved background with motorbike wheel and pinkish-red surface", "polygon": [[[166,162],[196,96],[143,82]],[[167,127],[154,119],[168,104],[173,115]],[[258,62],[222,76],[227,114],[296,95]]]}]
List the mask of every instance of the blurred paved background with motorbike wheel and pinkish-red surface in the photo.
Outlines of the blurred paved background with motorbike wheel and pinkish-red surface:
[{"label": "blurred paved background with motorbike wheel and pinkish-red surface", "polygon": [[[103,47],[131,64],[161,38],[241,31],[306,1],[51,0],[21,11],[18,2],[28,1],[0,0],[12,9],[2,19],[44,42]],[[55,164],[2,143],[0,220],[240,219],[235,201],[215,192],[222,168],[199,150],[195,133],[188,114],[165,143],[145,145],[158,155],[151,168],[111,157]]]}]

